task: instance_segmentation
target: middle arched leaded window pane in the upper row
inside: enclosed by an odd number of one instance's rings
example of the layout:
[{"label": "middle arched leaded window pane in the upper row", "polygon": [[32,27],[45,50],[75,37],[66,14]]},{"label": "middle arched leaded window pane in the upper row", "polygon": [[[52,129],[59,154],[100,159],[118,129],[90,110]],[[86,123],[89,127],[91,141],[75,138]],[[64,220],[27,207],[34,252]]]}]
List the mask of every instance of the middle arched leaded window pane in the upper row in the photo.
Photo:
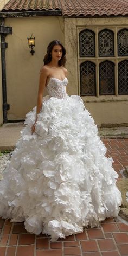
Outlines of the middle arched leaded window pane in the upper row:
[{"label": "middle arched leaded window pane in the upper row", "polygon": [[99,32],[99,56],[114,56],[114,33],[104,29]]}]

